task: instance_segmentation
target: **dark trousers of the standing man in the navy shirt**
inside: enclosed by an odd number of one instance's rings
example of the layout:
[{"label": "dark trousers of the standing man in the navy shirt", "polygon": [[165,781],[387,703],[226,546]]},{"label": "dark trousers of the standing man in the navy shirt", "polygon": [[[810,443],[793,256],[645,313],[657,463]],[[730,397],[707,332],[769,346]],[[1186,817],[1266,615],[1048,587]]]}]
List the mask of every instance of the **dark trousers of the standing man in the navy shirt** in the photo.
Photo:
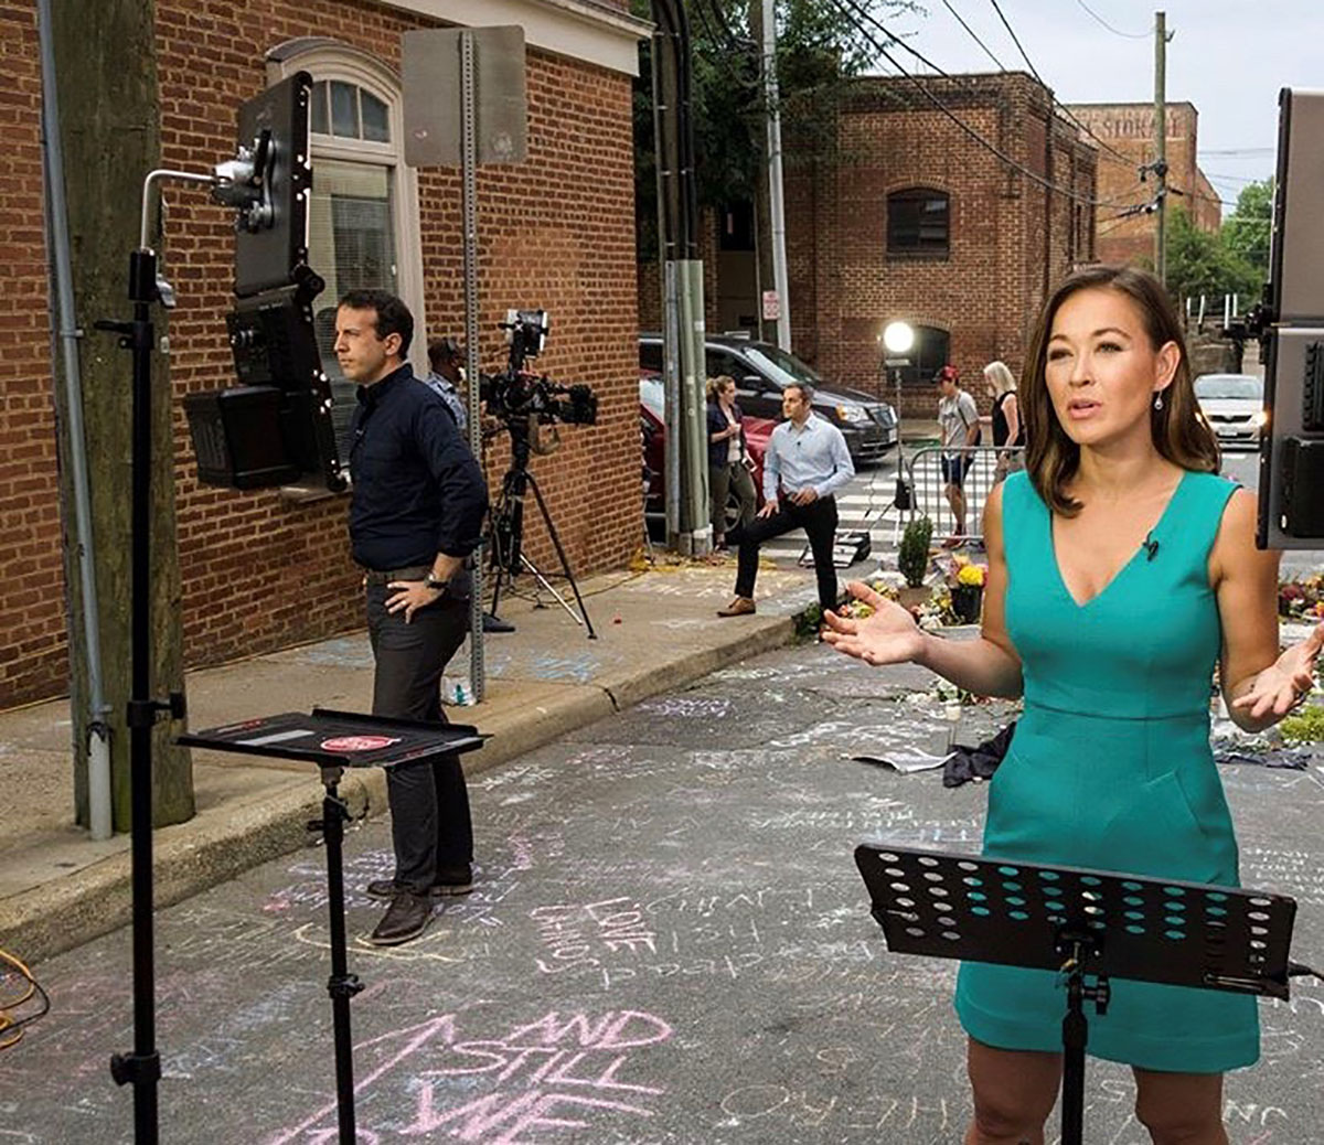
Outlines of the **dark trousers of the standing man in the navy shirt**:
[{"label": "dark trousers of the standing man in the navy shirt", "polygon": [[[368,585],[368,638],[377,662],[372,713],[446,723],[441,674],[469,631],[469,601],[444,597],[405,623],[404,612],[387,612],[387,597],[396,592]],[[438,871],[473,862],[474,827],[459,756],[387,768],[387,796],[397,887],[428,893]]]}]

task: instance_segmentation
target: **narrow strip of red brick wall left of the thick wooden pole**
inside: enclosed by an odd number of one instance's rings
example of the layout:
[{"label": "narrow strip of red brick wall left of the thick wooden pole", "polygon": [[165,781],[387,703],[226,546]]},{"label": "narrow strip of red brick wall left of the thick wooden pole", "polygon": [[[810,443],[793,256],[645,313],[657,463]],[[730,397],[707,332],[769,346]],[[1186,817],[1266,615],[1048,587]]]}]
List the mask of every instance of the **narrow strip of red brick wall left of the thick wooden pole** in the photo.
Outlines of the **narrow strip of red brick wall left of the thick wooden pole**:
[{"label": "narrow strip of red brick wall left of the thick wooden pole", "polygon": [[0,708],[69,674],[50,312],[41,212],[36,5],[0,3]]}]

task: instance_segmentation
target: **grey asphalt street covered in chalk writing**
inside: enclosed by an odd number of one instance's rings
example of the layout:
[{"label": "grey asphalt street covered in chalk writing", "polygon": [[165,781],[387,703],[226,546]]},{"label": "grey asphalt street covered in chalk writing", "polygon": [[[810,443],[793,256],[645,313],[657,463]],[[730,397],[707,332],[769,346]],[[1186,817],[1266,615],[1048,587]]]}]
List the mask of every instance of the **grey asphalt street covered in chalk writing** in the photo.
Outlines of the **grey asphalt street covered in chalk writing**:
[{"label": "grey asphalt street covered in chalk writing", "polygon": [[[916,668],[824,646],[661,695],[473,782],[479,887],[430,931],[365,945],[388,829],[346,842],[359,1140],[948,1145],[969,1104],[955,964],[890,954],[853,862],[863,839],[974,850],[982,785],[853,756],[928,747]],[[1008,716],[968,708],[974,743]],[[1222,769],[1247,886],[1298,897],[1324,962],[1324,774]],[[336,1140],[324,852],[308,847],[158,912],[162,1141]],[[52,1014],[0,1056],[0,1140],[127,1142],[130,935],[37,968]],[[1264,1002],[1263,1059],[1227,1080],[1234,1145],[1324,1125],[1324,987]],[[1091,1063],[1087,1141],[1143,1145],[1121,1067]],[[1053,1140],[1050,1134],[1050,1140]]]}]

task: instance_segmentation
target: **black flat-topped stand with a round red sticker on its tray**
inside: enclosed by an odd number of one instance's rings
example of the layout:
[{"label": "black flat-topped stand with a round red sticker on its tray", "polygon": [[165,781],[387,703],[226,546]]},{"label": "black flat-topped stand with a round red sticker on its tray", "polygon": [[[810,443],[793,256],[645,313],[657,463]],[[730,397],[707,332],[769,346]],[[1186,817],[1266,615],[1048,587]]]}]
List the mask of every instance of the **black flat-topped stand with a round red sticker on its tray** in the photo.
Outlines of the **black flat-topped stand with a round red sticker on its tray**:
[{"label": "black flat-topped stand with a round red sticker on its tray", "polygon": [[326,796],[322,818],[308,830],[322,831],[327,848],[327,908],[331,915],[331,1022],[335,1032],[335,1084],[339,1140],[354,1145],[354,1042],[350,1036],[350,999],[363,989],[351,974],[344,933],[344,821],[348,809],[336,790],[346,768],[397,768],[432,762],[451,752],[473,752],[486,737],[469,724],[434,724],[388,719],[360,712],[314,708],[311,715],[283,712],[207,728],[179,737],[179,743],[218,752],[305,760],[322,770]]}]

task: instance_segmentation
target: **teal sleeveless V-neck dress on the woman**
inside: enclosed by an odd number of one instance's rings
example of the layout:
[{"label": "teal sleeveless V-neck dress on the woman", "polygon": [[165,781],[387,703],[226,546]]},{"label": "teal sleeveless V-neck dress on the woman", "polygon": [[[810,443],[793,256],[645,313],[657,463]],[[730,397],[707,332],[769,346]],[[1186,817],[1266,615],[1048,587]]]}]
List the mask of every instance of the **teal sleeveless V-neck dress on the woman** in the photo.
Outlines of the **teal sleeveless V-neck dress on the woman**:
[{"label": "teal sleeveless V-neck dress on the woman", "polygon": [[[1222,627],[1209,552],[1234,486],[1186,473],[1141,548],[1078,605],[1051,516],[1026,473],[1002,486],[1006,625],[1025,715],[989,784],[989,858],[1237,884],[1237,841],[1209,749],[1209,687]],[[1144,1070],[1215,1074],[1259,1056],[1250,997],[1112,981],[1090,1013],[1091,1054]],[[961,965],[956,1013],[978,1042],[1061,1051],[1059,976]]]}]

